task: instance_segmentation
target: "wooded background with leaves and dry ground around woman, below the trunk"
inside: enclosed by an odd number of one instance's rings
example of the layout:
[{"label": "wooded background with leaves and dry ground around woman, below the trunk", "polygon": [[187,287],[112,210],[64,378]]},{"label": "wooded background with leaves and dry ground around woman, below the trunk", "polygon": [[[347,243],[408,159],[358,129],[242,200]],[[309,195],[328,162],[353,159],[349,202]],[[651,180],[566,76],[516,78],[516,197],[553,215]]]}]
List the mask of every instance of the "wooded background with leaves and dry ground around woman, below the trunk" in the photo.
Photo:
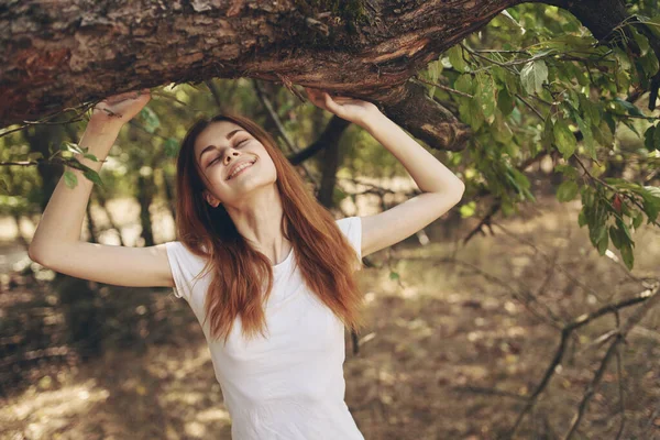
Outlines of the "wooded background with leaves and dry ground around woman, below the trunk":
[{"label": "wooded background with leaves and dry ground around woman, below the trunk", "polygon": [[[365,438],[660,438],[660,11],[625,10],[594,36],[564,9],[514,6],[408,79],[453,118],[449,138],[418,140],[466,191],[365,258],[369,330],[346,332],[344,365]],[[87,174],[81,240],[175,240],[179,142],[222,110],[268,130],[337,218],[418,194],[365,131],[282,78],[152,87]],[[172,289],[26,256],[92,103],[0,132],[0,438],[230,438],[201,329]]]}]

